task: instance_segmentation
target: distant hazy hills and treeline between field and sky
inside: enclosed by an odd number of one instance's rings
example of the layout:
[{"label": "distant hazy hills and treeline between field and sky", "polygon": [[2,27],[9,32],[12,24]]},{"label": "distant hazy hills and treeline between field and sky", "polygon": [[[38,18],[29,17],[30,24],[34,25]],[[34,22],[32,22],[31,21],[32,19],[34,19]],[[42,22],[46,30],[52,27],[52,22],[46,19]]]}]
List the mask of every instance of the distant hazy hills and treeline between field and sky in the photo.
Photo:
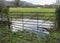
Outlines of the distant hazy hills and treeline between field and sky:
[{"label": "distant hazy hills and treeline between field and sky", "polygon": [[[14,1],[5,1],[5,4],[6,5],[9,5],[10,7],[16,7],[15,6],[15,2]],[[32,3],[29,3],[29,2],[25,2],[25,1],[20,1],[20,4],[18,7],[22,7],[22,8],[40,8],[40,7],[43,7],[43,8],[55,8],[56,5],[54,4],[50,4],[50,5],[34,5]]]}]

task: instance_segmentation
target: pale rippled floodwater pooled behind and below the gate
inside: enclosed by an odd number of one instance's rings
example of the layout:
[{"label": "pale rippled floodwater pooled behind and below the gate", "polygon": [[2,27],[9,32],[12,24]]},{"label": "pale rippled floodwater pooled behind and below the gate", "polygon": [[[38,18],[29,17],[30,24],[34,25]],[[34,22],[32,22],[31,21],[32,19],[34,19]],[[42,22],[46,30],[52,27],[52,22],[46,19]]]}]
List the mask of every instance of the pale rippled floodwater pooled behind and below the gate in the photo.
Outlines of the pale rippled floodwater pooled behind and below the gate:
[{"label": "pale rippled floodwater pooled behind and below the gate", "polygon": [[44,28],[52,28],[53,22],[44,21],[44,20],[33,20],[33,19],[12,19],[12,31],[16,32],[18,30],[29,31],[30,33],[34,32],[37,34],[39,39],[40,36],[44,37],[45,34],[49,34],[49,32]]}]

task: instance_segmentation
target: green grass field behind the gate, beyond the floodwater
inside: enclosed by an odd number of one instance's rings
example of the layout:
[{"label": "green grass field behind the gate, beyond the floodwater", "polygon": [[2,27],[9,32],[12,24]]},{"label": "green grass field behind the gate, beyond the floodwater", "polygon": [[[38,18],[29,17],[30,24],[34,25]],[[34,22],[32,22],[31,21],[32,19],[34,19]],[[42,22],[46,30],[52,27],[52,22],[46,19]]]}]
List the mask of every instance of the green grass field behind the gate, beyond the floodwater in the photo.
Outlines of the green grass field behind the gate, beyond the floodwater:
[{"label": "green grass field behind the gate, beyond the floodwater", "polygon": [[[15,18],[22,18],[22,13],[20,12],[34,12],[34,13],[23,13],[24,18],[31,18],[31,19],[44,19],[44,20],[55,20],[54,13],[36,13],[36,12],[55,12],[53,8],[10,8],[10,15]],[[38,15],[37,15],[38,14]]]}]

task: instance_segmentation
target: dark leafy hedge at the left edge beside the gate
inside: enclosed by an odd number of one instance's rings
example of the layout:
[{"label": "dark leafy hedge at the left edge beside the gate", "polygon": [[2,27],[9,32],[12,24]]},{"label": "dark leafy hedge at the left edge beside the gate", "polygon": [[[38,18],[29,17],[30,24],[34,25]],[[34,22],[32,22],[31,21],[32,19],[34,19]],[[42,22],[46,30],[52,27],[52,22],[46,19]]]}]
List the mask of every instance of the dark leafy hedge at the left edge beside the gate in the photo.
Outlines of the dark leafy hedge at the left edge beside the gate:
[{"label": "dark leafy hedge at the left edge beside the gate", "polygon": [[0,23],[10,29],[9,6],[5,5],[5,0],[0,0]]}]

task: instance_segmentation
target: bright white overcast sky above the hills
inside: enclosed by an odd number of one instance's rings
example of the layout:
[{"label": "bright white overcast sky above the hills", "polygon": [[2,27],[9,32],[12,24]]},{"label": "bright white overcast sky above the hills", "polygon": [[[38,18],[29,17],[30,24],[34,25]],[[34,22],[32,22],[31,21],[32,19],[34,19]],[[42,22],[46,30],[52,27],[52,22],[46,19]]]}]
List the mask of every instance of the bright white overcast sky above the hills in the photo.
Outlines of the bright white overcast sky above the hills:
[{"label": "bright white overcast sky above the hills", "polygon": [[33,4],[40,4],[40,5],[51,4],[56,2],[56,0],[22,0],[22,1],[30,2]]}]

